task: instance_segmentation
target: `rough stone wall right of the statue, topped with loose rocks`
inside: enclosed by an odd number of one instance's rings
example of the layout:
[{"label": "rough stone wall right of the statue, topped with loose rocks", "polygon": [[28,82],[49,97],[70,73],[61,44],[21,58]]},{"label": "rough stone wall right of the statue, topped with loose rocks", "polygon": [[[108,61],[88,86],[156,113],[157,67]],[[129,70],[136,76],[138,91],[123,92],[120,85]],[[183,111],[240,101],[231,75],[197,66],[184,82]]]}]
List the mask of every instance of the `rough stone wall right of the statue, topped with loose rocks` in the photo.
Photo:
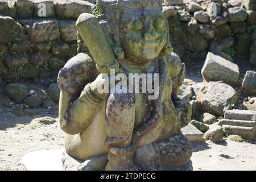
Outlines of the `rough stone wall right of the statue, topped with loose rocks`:
[{"label": "rough stone wall right of the statue, topped with loose rocks", "polygon": [[[255,0],[164,0],[171,42],[180,56],[208,51],[232,61],[247,57],[256,65]],[[251,55],[251,56],[250,56]]]}]

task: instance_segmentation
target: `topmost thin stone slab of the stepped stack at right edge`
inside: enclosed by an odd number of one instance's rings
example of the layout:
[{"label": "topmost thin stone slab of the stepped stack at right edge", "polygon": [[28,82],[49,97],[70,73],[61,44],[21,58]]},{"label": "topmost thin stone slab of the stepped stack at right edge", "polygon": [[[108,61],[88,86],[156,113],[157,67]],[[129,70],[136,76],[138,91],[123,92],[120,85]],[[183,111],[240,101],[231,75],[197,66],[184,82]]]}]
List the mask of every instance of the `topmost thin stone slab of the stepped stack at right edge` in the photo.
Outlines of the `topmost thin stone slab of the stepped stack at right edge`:
[{"label": "topmost thin stone slab of the stepped stack at right edge", "polygon": [[238,109],[228,110],[225,112],[224,118],[243,121],[256,121],[256,111]]}]

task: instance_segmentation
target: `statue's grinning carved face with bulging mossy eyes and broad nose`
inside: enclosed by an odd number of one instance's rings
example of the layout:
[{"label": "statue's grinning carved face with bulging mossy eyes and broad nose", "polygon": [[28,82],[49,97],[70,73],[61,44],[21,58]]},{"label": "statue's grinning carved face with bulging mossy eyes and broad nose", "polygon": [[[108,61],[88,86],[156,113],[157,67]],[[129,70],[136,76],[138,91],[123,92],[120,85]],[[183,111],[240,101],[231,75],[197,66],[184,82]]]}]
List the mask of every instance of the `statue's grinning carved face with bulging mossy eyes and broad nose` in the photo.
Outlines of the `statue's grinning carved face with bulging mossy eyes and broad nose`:
[{"label": "statue's grinning carved face with bulging mossy eyes and broad nose", "polygon": [[167,40],[167,20],[159,9],[127,9],[122,18],[125,57],[136,64],[159,56]]}]

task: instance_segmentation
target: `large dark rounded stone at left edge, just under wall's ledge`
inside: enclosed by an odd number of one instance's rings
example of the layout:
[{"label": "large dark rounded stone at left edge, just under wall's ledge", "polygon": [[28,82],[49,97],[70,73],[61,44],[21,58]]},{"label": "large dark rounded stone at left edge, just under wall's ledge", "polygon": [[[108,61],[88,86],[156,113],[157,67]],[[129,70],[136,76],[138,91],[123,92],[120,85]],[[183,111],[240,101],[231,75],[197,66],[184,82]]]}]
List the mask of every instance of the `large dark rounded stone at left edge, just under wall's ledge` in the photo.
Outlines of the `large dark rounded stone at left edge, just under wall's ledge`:
[{"label": "large dark rounded stone at left edge, just under wall's ledge", "polygon": [[0,43],[14,42],[16,40],[23,40],[23,28],[16,23],[10,16],[0,16]]}]

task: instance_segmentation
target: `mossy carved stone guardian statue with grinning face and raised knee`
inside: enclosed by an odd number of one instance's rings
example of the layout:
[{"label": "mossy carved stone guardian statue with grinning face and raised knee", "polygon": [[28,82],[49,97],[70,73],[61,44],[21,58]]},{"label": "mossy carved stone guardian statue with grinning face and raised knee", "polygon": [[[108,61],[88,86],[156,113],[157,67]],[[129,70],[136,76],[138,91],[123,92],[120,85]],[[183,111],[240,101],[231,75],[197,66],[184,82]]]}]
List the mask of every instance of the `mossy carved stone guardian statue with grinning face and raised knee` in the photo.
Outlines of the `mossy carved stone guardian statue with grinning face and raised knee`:
[{"label": "mossy carved stone guardian statue with grinning face and raised knee", "polygon": [[116,58],[112,68],[127,77],[158,73],[159,97],[99,93],[98,86],[106,82],[100,57],[92,56],[92,51],[79,53],[58,76],[59,119],[67,133],[67,154],[84,161],[95,159],[100,166],[90,169],[191,169],[192,147],[180,131],[191,120],[191,106],[177,97],[185,65],[172,52],[162,1],[99,0],[93,14]]}]

